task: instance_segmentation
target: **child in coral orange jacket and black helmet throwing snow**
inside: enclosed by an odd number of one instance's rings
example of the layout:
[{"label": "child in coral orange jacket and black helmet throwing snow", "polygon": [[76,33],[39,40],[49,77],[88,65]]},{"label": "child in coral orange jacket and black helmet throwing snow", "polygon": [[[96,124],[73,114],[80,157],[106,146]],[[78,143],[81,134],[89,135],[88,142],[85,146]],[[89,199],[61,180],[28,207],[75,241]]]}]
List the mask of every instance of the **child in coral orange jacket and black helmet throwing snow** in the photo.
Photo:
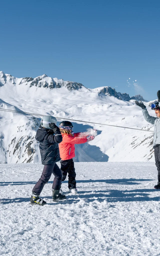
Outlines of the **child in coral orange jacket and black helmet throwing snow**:
[{"label": "child in coral orange jacket and black helmet throwing snow", "polygon": [[[74,168],[73,157],[75,156],[74,144],[82,144],[94,139],[93,136],[89,136],[87,133],[74,133],[73,125],[69,121],[63,121],[59,124],[60,132],[62,134],[62,142],[59,144],[59,152],[61,158],[61,171],[62,171],[62,181],[66,179],[68,173],[68,188],[69,192],[77,194],[76,188],[76,173]],[[88,137],[89,136],[89,137]],[[62,193],[60,189],[60,193]]]}]

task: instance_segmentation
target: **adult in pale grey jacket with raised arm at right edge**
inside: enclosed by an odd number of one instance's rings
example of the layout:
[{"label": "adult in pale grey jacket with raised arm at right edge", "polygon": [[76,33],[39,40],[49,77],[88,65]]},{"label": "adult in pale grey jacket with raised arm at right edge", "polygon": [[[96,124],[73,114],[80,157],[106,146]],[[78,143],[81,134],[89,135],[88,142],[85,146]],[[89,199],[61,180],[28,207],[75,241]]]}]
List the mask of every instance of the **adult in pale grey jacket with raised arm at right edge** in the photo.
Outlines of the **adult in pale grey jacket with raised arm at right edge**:
[{"label": "adult in pale grey jacket with raised arm at right edge", "polygon": [[[160,103],[160,90],[157,92],[158,102]],[[153,136],[153,148],[155,155],[155,164],[158,170],[158,183],[154,186],[156,189],[160,189],[160,107],[159,103],[152,104],[151,108],[155,110],[155,114],[157,117],[150,116],[146,109],[146,106],[142,101],[135,103],[142,108],[142,113],[145,120],[151,124],[154,124],[154,136]]]}]

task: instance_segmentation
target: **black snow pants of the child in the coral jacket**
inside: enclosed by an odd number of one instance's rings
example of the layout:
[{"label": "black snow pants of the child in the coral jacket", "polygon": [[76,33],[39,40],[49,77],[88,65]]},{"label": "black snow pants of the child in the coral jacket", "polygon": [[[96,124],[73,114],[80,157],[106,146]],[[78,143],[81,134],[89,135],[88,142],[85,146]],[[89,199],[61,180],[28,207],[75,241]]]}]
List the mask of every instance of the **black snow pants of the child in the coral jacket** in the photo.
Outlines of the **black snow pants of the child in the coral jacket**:
[{"label": "black snow pants of the child in the coral jacket", "polygon": [[68,173],[68,187],[76,188],[76,173],[74,168],[73,159],[61,160],[61,171],[62,171],[62,181],[66,179]]}]

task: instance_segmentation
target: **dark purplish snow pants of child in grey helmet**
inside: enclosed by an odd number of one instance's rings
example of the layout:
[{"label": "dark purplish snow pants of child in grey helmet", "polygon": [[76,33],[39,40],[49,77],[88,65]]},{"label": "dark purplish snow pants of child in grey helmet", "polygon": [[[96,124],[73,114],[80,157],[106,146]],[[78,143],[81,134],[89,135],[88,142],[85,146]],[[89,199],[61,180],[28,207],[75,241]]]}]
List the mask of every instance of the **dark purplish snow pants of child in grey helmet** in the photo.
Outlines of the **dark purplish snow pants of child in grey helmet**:
[{"label": "dark purplish snow pants of child in grey helmet", "polygon": [[37,195],[40,195],[44,185],[49,181],[52,174],[55,176],[53,180],[52,189],[56,189],[56,190],[60,189],[62,172],[59,169],[58,165],[55,163],[55,164],[46,164],[44,166],[42,175],[40,179],[37,181],[36,185],[34,186],[32,192],[35,192]]}]

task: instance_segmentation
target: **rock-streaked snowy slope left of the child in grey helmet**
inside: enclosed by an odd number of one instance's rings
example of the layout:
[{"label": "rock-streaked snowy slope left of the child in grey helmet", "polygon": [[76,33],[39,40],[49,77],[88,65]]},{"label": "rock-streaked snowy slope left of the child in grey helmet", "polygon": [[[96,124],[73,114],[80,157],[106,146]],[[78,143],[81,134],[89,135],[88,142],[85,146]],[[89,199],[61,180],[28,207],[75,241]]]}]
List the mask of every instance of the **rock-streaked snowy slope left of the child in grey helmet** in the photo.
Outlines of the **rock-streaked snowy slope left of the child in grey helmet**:
[{"label": "rock-streaked snowy slope left of the child in grey helmet", "polygon": [[[0,108],[20,111],[0,99]],[[0,118],[0,163],[38,162],[38,143],[35,132],[39,120],[24,114],[2,112]]]}]

